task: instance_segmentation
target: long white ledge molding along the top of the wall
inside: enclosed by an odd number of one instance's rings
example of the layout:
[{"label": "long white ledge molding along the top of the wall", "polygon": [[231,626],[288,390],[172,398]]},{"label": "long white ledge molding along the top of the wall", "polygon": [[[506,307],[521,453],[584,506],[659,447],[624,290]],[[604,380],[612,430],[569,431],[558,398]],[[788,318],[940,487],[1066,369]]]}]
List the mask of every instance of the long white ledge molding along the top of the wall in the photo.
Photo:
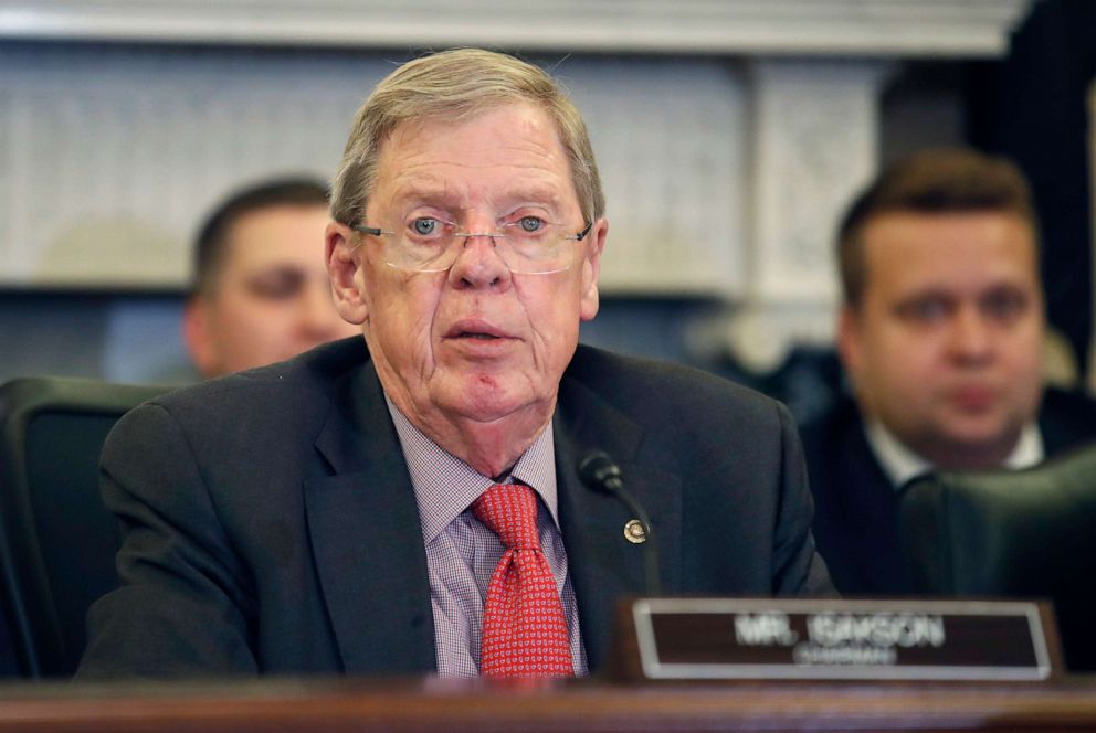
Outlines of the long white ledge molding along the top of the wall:
[{"label": "long white ledge molding along the top of the wall", "polygon": [[1031,0],[3,0],[0,38],[994,56]]}]

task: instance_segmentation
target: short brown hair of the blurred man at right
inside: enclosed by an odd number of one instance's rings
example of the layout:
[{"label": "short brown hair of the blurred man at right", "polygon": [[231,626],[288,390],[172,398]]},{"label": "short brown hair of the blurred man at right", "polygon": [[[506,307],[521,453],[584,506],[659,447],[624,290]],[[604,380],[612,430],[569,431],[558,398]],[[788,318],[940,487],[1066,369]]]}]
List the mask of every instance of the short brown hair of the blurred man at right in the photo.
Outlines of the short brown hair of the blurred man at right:
[{"label": "short brown hair of the blurred man at right", "polygon": [[858,307],[867,287],[864,230],[883,214],[1014,214],[1039,224],[1031,188],[1014,163],[967,149],[926,150],[889,164],[845,212],[837,233],[837,264],[845,305]]}]

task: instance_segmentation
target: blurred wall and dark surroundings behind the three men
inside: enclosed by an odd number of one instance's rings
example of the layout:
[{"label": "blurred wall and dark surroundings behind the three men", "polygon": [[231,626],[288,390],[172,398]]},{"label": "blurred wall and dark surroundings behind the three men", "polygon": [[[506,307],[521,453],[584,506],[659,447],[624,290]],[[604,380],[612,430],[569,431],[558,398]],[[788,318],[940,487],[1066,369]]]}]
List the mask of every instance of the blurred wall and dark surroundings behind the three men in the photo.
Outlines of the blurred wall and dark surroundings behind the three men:
[{"label": "blurred wall and dark surroundings behind the three men", "polygon": [[0,0],[0,381],[190,379],[204,213],[329,178],[372,85],[455,45],[545,65],[586,115],[610,234],[584,341],[809,418],[841,384],[842,209],[889,159],[970,145],[1033,182],[1053,376],[1089,383],[1090,0]]}]

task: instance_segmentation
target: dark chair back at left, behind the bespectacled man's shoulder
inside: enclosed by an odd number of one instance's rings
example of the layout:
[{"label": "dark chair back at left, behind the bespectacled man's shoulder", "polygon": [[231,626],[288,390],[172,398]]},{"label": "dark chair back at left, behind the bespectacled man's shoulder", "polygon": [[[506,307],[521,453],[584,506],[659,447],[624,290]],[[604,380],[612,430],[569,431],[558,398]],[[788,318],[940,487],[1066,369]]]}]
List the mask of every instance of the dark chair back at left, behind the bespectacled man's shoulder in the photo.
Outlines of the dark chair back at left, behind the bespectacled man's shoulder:
[{"label": "dark chair back at left, behind the bespectacled man's shoulder", "polygon": [[114,586],[120,544],[99,500],[99,452],[118,417],[169,389],[52,376],[0,385],[0,598],[23,677],[75,671],[84,617]]}]

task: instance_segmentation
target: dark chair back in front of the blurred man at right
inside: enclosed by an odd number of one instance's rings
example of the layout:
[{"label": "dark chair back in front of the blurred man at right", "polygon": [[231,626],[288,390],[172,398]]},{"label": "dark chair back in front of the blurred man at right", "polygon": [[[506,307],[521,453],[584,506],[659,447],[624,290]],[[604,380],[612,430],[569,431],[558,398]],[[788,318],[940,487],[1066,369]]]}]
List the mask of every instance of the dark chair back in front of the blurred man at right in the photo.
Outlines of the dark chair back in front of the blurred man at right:
[{"label": "dark chair back in front of the blurred man at right", "polygon": [[1096,446],[1025,470],[924,476],[900,512],[919,592],[1050,598],[1066,666],[1096,670]]}]

